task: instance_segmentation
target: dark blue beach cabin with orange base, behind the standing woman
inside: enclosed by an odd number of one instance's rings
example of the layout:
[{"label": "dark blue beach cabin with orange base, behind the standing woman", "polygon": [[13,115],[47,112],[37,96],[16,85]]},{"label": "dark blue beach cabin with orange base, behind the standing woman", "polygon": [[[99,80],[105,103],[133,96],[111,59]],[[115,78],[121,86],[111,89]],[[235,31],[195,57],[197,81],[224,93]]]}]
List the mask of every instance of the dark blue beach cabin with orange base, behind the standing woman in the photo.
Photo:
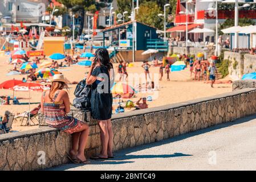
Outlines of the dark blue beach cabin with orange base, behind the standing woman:
[{"label": "dark blue beach cabin with orange base, behind the standing woman", "polygon": [[[168,52],[168,43],[159,38],[157,29],[145,23],[135,21],[135,60],[149,60],[151,55],[141,55],[148,49],[157,49],[157,57]],[[103,46],[112,47],[111,57],[131,62],[133,45],[132,21],[105,28]]]}]

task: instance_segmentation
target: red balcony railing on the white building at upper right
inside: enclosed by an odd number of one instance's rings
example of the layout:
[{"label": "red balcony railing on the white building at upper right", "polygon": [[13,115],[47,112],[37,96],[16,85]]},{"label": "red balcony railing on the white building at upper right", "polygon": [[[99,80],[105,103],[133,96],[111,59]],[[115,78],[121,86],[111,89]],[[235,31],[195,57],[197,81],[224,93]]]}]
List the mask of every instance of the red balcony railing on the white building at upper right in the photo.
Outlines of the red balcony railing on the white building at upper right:
[{"label": "red balcony railing on the white building at upper right", "polygon": [[[239,18],[256,19],[256,10],[240,10]],[[197,19],[216,19],[214,11],[197,11]],[[218,10],[218,19],[234,19],[234,11]]]}]

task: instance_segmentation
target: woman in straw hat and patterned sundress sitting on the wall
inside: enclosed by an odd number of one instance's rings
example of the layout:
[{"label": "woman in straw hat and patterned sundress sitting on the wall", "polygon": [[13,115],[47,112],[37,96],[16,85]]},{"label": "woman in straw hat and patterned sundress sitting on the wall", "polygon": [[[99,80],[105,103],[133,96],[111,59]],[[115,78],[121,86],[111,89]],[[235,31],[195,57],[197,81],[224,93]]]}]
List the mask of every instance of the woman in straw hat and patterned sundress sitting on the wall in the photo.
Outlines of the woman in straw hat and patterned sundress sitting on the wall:
[{"label": "woman in straw hat and patterned sundress sitting on the wall", "polygon": [[70,112],[70,98],[63,90],[65,87],[67,88],[67,84],[64,76],[54,75],[51,89],[42,95],[42,112],[48,126],[72,134],[72,149],[68,155],[71,162],[88,164],[84,149],[89,135],[89,126],[78,119],[67,116]]}]

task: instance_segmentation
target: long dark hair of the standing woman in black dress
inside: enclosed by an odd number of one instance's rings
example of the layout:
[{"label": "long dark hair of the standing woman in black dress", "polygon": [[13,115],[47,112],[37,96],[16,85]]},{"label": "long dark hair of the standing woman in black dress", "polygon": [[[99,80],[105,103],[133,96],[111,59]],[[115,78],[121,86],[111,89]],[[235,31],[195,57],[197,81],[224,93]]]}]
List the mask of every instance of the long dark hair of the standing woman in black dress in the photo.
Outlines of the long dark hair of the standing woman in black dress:
[{"label": "long dark hair of the standing woman in black dress", "polygon": [[110,62],[108,50],[105,48],[99,48],[95,52],[95,59],[100,62],[101,65],[104,65],[105,67],[110,70],[113,68],[113,64]]}]

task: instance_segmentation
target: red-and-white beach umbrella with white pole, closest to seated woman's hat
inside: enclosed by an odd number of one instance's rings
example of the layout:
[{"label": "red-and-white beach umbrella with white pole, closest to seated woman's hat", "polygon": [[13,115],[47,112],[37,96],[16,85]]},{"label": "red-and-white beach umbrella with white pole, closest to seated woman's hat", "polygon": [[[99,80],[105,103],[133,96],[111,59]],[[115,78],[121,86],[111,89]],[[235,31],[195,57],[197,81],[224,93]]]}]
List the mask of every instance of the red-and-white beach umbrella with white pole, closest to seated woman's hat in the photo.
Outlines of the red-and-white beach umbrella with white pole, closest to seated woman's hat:
[{"label": "red-and-white beach umbrella with white pole, closest to seated woman's hat", "polygon": [[43,92],[44,90],[48,90],[48,89],[50,88],[40,84],[35,84],[32,82],[22,83],[13,87],[13,90],[15,91],[29,92],[29,123],[30,123],[30,91],[32,90],[32,91]]}]

